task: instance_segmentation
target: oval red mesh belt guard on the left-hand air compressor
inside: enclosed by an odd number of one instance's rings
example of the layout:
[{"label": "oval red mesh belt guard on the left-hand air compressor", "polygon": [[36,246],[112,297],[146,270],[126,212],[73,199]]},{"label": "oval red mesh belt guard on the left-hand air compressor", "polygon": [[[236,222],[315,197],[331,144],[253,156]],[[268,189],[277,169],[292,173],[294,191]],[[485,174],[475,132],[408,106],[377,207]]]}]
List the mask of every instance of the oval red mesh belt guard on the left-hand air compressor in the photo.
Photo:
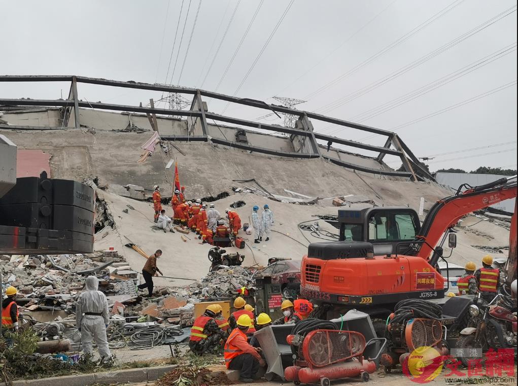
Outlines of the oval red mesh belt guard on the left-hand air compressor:
[{"label": "oval red mesh belt guard on the left-hand air compressor", "polygon": [[308,367],[323,367],[362,355],[365,338],[354,331],[315,330],[304,338],[302,352]]}]

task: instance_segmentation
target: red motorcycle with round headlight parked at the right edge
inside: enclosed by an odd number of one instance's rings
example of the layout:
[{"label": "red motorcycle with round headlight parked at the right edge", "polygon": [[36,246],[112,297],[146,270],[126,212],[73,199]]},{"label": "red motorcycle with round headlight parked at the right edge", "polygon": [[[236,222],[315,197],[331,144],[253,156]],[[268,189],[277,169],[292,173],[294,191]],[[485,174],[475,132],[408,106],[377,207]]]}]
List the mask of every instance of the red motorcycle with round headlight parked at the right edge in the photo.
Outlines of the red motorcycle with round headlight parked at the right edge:
[{"label": "red motorcycle with round headlight parked at the right edge", "polygon": [[[508,293],[504,290],[505,293]],[[482,353],[490,348],[514,349],[516,356],[517,318],[515,307],[510,297],[497,293],[490,303],[480,297],[474,299],[469,306],[471,319],[457,341],[457,350],[461,349],[464,365],[469,361],[480,359]]]}]

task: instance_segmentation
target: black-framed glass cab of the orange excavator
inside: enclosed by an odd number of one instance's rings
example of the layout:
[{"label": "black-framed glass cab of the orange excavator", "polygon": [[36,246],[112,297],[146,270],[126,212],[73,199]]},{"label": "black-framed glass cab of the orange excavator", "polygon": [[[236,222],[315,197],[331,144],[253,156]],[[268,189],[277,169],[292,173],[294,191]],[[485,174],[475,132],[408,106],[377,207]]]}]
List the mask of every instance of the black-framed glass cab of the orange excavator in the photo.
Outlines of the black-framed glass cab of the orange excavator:
[{"label": "black-framed glass cab of the orange excavator", "polygon": [[408,207],[339,210],[338,223],[340,241],[370,242],[375,255],[408,250],[421,230],[418,214]]}]

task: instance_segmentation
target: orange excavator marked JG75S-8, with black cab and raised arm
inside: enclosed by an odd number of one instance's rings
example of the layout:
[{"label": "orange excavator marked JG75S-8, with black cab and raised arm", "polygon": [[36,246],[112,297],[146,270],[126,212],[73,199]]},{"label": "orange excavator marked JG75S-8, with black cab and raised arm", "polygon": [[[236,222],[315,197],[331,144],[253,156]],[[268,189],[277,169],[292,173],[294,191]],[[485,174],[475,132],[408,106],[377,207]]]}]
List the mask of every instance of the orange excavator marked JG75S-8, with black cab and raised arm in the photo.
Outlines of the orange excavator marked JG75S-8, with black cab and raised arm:
[{"label": "orange excavator marked JG75S-8, with black cab and raised arm", "polygon": [[[408,207],[339,210],[339,241],[308,247],[301,263],[300,292],[316,304],[329,305],[321,308],[326,310],[319,316],[324,319],[352,308],[385,319],[404,299],[443,298],[447,289],[437,263],[449,257],[443,256],[446,240],[450,248],[456,246],[453,227],[468,213],[509,198],[516,198],[516,176],[479,187],[462,185],[456,194],[434,204],[422,224]],[[515,278],[516,207],[509,283]]]}]

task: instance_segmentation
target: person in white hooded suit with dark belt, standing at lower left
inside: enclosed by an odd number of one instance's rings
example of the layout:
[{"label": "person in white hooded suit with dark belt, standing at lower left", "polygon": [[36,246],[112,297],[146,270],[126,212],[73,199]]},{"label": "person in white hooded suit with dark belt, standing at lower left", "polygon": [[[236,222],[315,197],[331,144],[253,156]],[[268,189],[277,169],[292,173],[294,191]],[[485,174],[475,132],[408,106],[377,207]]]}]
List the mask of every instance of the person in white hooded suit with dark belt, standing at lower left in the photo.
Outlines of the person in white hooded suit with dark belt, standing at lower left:
[{"label": "person in white hooded suit with dark belt, standing at lower left", "polygon": [[108,301],[104,293],[98,291],[99,280],[89,276],[83,292],[76,302],[76,325],[81,333],[83,352],[92,352],[92,340],[95,341],[99,356],[104,360],[110,358],[111,353],[106,339],[106,327],[110,322]]}]

